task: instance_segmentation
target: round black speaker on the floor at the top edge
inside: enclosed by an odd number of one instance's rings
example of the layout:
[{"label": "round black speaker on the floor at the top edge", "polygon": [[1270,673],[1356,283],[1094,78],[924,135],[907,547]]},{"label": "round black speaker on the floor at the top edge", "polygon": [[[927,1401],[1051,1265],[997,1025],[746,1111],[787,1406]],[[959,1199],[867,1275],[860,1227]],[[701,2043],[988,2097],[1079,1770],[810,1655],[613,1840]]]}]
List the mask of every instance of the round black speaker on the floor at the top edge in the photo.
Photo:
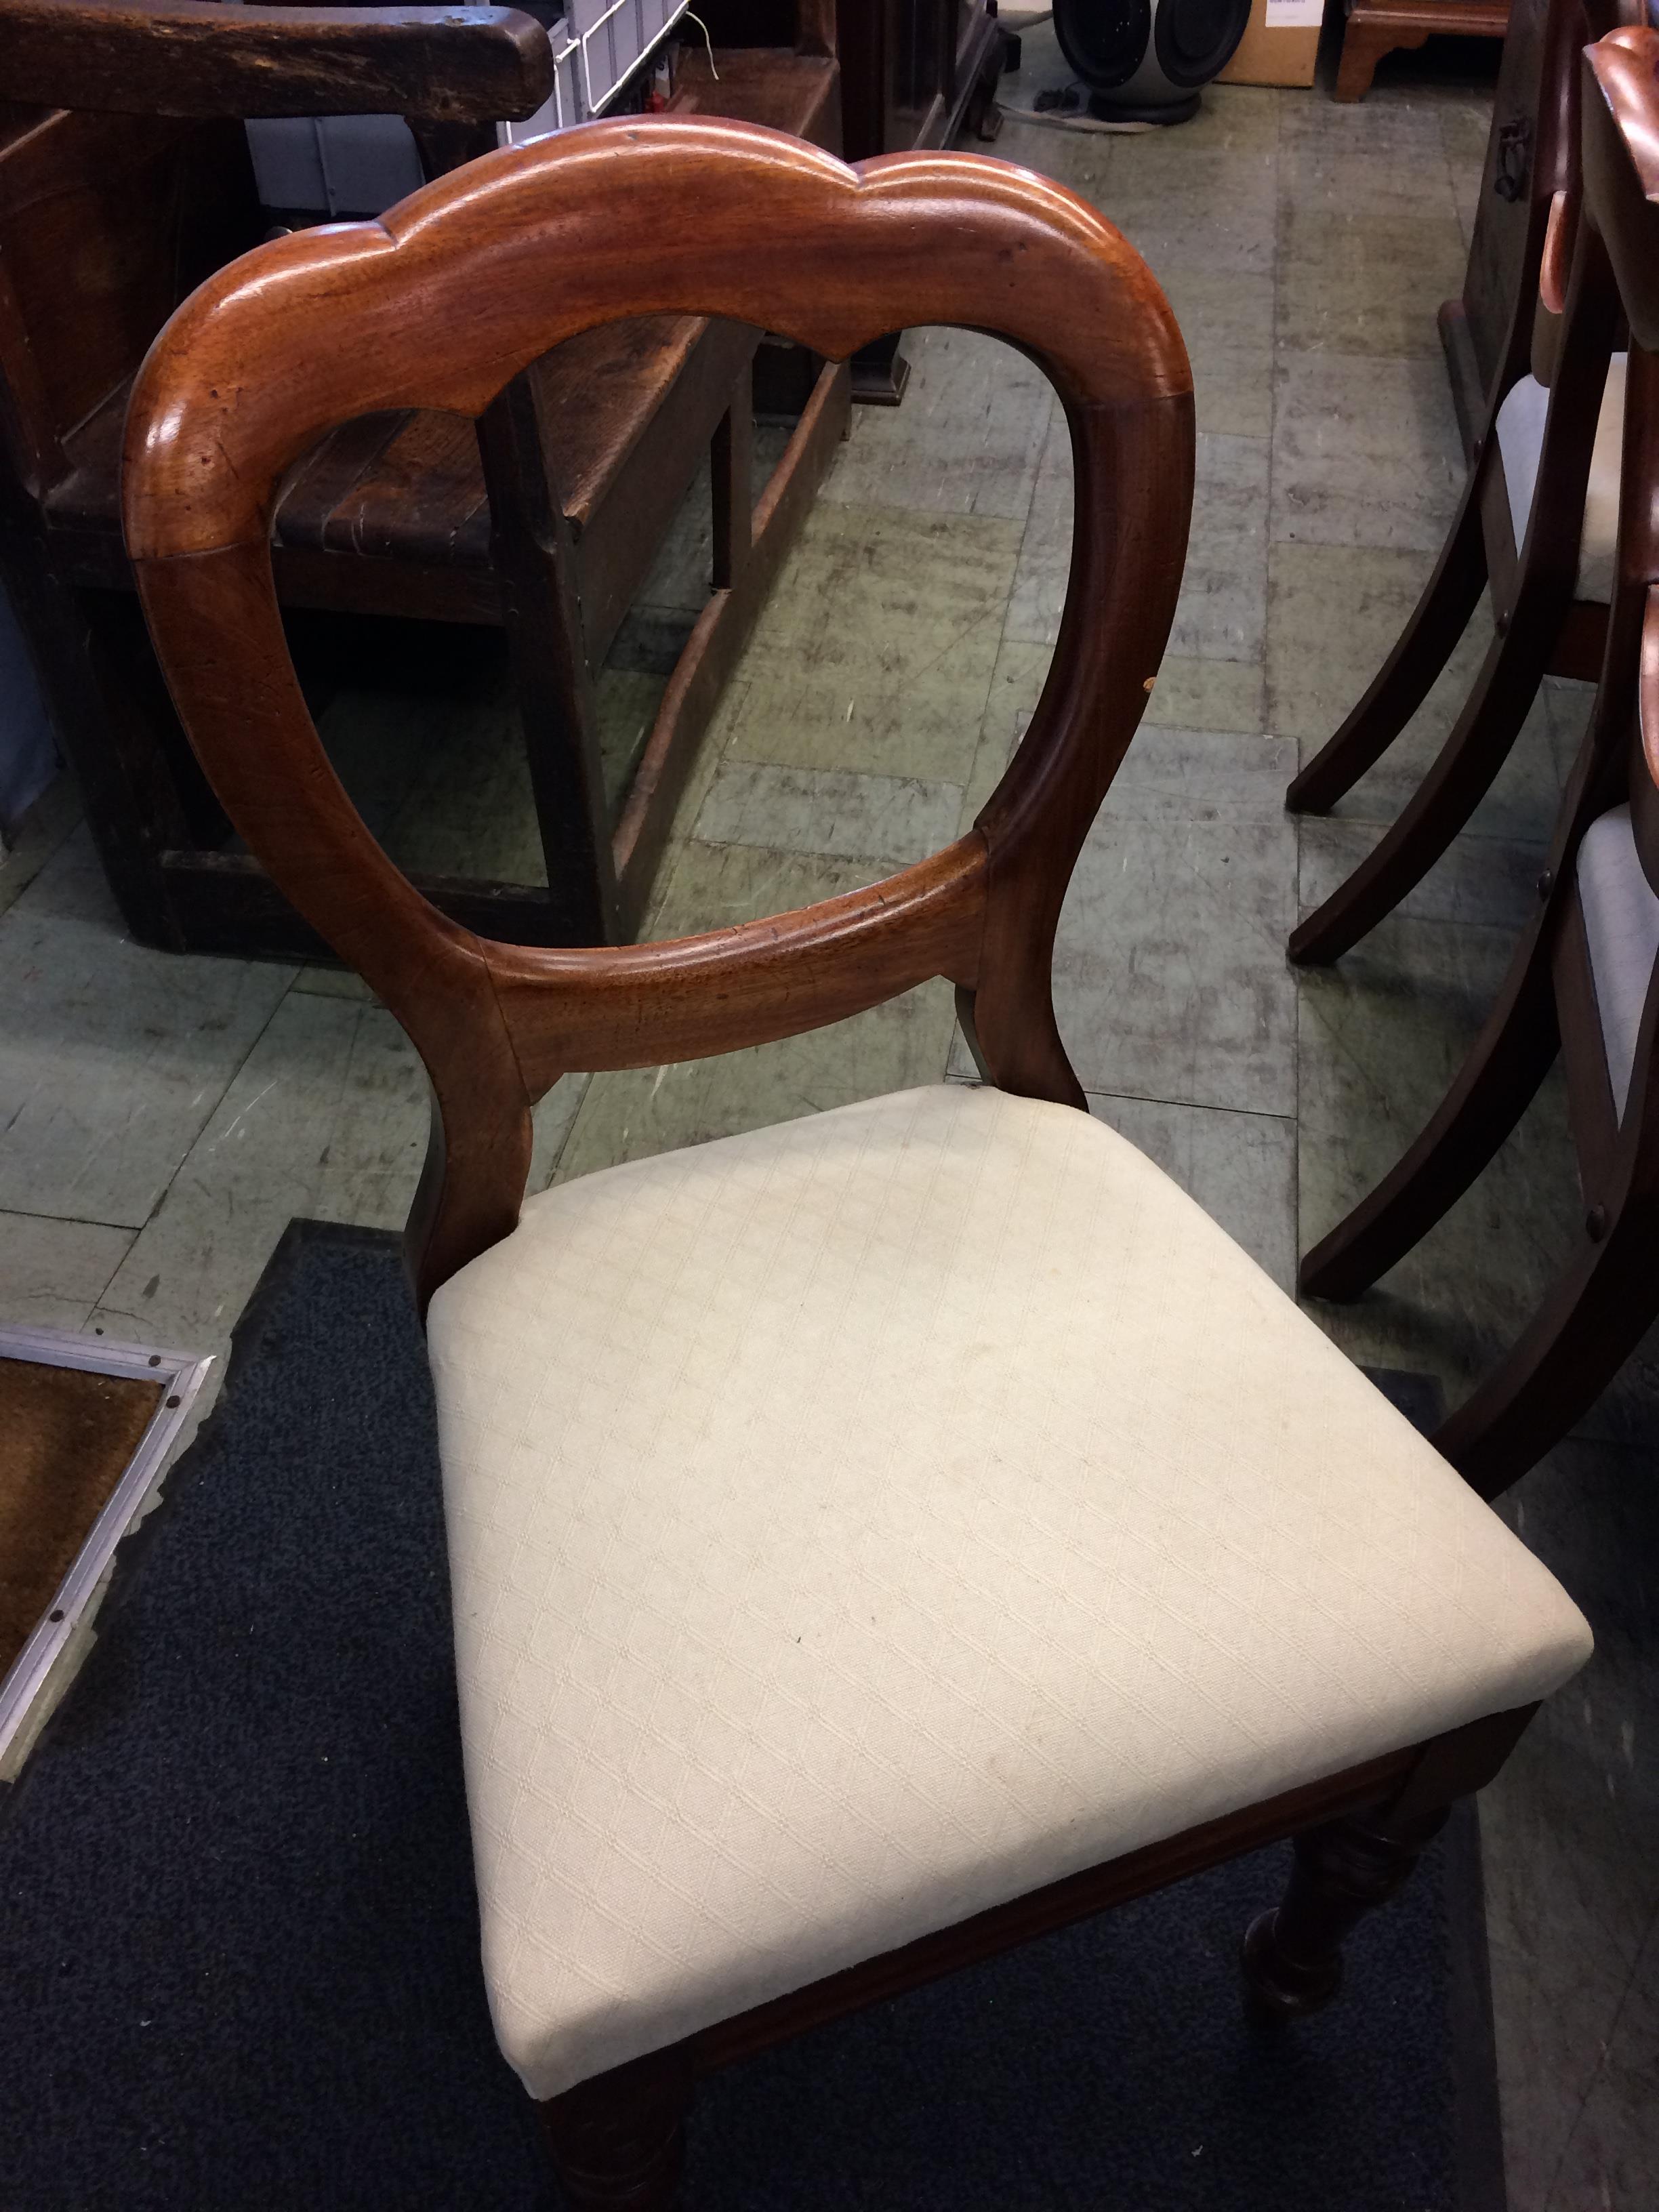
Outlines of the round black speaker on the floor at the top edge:
[{"label": "round black speaker on the floor at the top edge", "polygon": [[1055,0],[1060,51],[1102,122],[1183,124],[1232,60],[1250,0]]}]

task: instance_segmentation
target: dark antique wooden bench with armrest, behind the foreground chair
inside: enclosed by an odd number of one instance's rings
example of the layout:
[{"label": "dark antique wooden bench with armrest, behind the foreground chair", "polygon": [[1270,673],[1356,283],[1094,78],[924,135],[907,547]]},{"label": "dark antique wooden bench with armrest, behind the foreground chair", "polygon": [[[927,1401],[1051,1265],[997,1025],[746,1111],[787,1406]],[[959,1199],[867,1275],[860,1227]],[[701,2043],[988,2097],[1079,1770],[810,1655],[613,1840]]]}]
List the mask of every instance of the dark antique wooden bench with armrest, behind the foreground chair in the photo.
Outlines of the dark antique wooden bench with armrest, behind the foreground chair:
[{"label": "dark antique wooden bench with armrest, behind the foreground chair", "polygon": [[[119,535],[131,376],[190,285],[261,237],[232,117],[394,108],[442,170],[540,104],[546,33],[476,7],[0,0],[0,44],[7,93],[38,102],[0,117],[0,571],[133,933],[314,956],[228,845],[155,679]],[[807,7],[794,46],[723,51],[719,82],[692,60],[677,106],[834,146],[832,40]],[[546,880],[431,883],[445,911],[526,942],[635,931],[695,745],[845,431],[845,369],[785,363],[805,367],[799,422],[754,504],[752,383],[774,352],[737,323],[639,319],[531,363],[478,429],[380,411],[294,469],[272,533],[296,619],[507,633]],[[593,681],[706,453],[712,597],[613,821]]]}]

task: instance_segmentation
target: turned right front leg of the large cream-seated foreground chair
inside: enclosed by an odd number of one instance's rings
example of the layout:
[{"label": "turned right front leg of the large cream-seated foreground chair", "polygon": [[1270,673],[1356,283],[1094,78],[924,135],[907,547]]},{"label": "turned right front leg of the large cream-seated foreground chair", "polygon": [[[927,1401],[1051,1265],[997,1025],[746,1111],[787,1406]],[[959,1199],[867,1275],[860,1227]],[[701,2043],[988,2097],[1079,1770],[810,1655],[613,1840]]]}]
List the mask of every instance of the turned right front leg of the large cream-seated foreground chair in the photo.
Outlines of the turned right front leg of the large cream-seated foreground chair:
[{"label": "turned right front leg of the large cream-seated foreground chair", "polygon": [[1405,1885],[1444,1820],[1440,1807],[1396,1834],[1376,1814],[1356,1814],[1296,1836],[1285,1902],[1252,1920],[1245,1936],[1250,1997],[1283,2020],[1329,2004],[1343,1986],[1349,1931]]}]

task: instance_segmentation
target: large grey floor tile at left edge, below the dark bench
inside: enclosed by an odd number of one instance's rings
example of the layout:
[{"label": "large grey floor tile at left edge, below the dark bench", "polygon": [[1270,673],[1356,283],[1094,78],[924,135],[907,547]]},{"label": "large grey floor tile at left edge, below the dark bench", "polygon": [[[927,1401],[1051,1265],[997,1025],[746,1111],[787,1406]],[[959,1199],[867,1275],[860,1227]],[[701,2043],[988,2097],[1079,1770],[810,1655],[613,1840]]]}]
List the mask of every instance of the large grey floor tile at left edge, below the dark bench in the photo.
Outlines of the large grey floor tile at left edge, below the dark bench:
[{"label": "large grey floor tile at left edge, below the dark bench", "polygon": [[0,1206],[142,1228],[292,973],[133,945],[77,830],[0,918]]}]

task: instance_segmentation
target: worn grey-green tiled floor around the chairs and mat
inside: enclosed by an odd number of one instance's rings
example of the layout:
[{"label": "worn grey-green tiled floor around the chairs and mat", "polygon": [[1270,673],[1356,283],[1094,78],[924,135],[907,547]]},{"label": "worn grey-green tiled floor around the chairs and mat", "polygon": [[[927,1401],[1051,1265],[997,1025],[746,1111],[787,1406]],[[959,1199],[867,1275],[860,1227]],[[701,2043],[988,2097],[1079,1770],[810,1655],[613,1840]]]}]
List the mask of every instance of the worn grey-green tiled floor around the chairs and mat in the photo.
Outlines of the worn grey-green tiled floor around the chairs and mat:
[{"label": "worn grey-green tiled floor around the chairs and mat", "polygon": [[[1433,312],[1460,285],[1486,97],[1431,69],[1358,108],[1212,88],[1168,135],[1009,124],[995,148],[1148,254],[1199,394],[1186,588],[1073,883],[1062,1031],[1093,1110],[1285,1285],[1467,1046],[1586,712],[1582,688],[1548,686],[1433,878],[1336,973],[1290,973],[1296,911],[1398,807],[1480,657],[1471,635],[1332,821],[1285,818],[1285,779],[1371,677],[1455,498]],[[803,905],[938,847],[1035,703],[1066,582],[1064,420],[989,341],[916,332],[909,354],[905,405],[858,411],[730,688],[653,933]],[[613,686],[624,750],[655,697],[646,664]],[[407,759],[414,717],[436,765],[422,803],[387,799],[383,818],[405,823],[409,858],[456,863],[460,845],[467,872],[495,872],[526,849],[500,697],[361,690],[327,732],[369,763],[389,732]],[[223,1349],[292,1214],[403,1219],[425,1088],[354,978],[126,942],[62,801],[0,869],[0,1318]],[[566,1079],[538,1121],[533,1186],[947,1068],[967,1062],[933,984],[765,1051]],[[1551,1084],[1420,1252],[1318,1318],[1356,1358],[1433,1371],[1455,1396],[1520,1327],[1573,1217]],[[1635,2212],[1659,2192],[1657,1380],[1644,1352],[1506,1506],[1599,1635],[1484,1801],[1513,2212]]]}]

